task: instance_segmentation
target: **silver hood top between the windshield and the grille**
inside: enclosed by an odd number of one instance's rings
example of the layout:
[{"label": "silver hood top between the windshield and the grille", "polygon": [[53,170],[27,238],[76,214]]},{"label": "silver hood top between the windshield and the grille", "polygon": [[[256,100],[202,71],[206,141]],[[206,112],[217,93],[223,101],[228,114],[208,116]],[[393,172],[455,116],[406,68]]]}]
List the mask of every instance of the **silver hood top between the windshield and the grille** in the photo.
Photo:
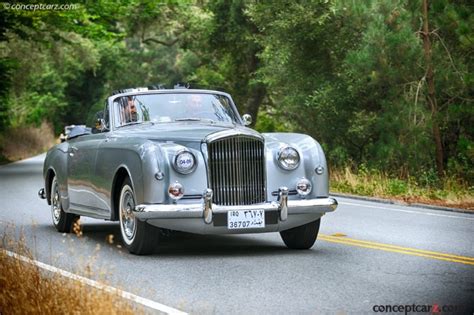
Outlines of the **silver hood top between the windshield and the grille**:
[{"label": "silver hood top between the windshield and the grille", "polygon": [[218,133],[223,135],[245,134],[261,137],[257,131],[244,126],[214,125],[200,122],[135,125],[121,128],[116,133],[117,135],[139,137],[160,142],[201,142],[206,137],[217,135]]}]

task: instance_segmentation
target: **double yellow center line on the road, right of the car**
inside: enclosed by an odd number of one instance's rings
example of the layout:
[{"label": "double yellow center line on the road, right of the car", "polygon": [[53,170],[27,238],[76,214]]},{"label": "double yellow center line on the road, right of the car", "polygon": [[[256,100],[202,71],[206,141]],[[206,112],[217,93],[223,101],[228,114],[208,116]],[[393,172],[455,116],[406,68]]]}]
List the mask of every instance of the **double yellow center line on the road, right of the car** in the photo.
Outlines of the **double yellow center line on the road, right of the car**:
[{"label": "double yellow center line on the road, right of the car", "polygon": [[359,246],[359,247],[371,248],[371,249],[378,249],[378,250],[383,250],[387,252],[426,257],[426,258],[432,258],[432,259],[438,259],[438,260],[444,260],[444,261],[450,261],[450,262],[456,262],[456,263],[474,266],[474,257],[451,255],[451,254],[421,250],[421,249],[416,249],[416,248],[356,240],[356,239],[351,239],[347,237],[334,237],[334,236],[324,235],[324,234],[320,234],[318,238],[327,242]]}]

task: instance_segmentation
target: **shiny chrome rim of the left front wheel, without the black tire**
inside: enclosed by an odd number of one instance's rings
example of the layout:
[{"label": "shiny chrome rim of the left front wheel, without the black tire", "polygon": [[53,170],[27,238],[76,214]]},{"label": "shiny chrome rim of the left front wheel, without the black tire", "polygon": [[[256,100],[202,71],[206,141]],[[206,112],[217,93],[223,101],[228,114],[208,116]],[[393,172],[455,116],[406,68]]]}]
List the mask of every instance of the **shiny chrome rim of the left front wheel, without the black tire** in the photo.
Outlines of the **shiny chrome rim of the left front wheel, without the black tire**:
[{"label": "shiny chrome rim of the left front wheel, without the black tire", "polygon": [[133,214],[135,208],[135,197],[132,188],[125,184],[120,193],[120,231],[123,240],[128,245],[133,243],[137,234],[137,218]]}]

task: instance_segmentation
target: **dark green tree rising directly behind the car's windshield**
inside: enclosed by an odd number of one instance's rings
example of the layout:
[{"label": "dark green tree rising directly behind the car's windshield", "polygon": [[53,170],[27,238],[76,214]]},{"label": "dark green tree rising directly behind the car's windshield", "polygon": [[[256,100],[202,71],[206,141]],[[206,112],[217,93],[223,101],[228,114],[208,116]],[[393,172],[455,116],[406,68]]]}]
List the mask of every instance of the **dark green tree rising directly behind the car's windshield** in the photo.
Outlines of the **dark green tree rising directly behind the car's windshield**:
[{"label": "dark green tree rising directly behind the car's windshield", "polygon": [[193,79],[201,86],[231,93],[241,112],[252,115],[255,122],[266,88],[257,76],[262,50],[255,41],[259,32],[247,15],[246,3],[219,0],[204,7],[212,20],[197,47],[203,63]]}]

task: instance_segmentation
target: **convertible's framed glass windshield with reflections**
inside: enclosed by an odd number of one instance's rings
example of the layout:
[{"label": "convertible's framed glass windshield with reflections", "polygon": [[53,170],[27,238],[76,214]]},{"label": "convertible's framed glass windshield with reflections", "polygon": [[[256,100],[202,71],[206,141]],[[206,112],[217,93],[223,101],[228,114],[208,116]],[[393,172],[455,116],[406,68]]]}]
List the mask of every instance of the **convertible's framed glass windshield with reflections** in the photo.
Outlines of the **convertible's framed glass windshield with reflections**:
[{"label": "convertible's framed glass windshield with reflections", "polygon": [[114,101],[118,127],[152,122],[206,121],[239,123],[230,100],[218,94],[168,93],[124,96]]}]

